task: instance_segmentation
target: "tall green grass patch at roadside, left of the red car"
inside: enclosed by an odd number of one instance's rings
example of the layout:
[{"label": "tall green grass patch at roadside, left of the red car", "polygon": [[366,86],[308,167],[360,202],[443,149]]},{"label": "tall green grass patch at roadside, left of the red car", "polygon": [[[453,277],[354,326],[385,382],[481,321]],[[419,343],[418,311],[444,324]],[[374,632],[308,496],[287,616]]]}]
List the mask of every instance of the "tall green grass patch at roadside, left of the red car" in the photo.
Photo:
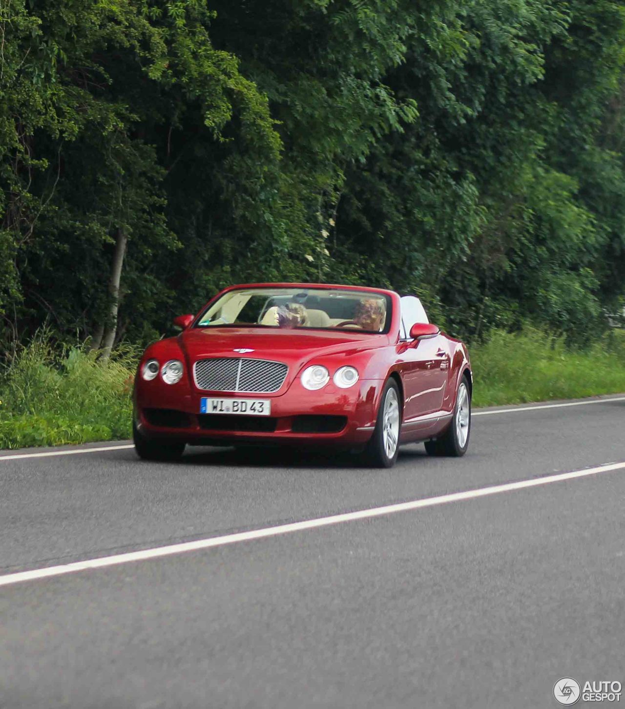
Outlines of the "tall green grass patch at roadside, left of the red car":
[{"label": "tall green grass patch at roadside, left of the red car", "polygon": [[128,438],[136,352],[103,361],[83,346],[56,351],[38,334],[0,379],[0,447]]}]

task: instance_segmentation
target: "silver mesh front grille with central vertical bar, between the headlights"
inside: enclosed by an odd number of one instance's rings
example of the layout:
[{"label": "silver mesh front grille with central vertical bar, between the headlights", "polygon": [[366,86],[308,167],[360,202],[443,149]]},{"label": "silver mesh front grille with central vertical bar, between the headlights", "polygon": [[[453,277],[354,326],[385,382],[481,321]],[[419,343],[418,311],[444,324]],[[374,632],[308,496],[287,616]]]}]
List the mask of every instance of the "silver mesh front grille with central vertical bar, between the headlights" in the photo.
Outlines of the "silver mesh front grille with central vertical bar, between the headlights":
[{"label": "silver mesh front grille with central vertical bar, between the headlights", "polygon": [[198,389],[235,391],[237,393],[272,393],[286,379],[288,367],[268,359],[220,357],[198,359],[193,376]]}]

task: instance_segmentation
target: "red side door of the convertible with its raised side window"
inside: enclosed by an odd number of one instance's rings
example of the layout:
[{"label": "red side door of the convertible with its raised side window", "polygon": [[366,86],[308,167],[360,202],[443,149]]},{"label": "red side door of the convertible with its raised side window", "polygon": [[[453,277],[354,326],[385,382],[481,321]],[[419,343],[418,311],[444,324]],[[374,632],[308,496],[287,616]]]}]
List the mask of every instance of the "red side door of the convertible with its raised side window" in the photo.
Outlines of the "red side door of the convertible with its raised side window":
[{"label": "red side door of the convertible with its raised side window", "polygon": [[403,296],[402,342],[398,348],[404,381],[404,422],[440,411],[446,393],[451,357],[444,335],[427,340],[410,340],[408,333],[415,323],[427,322],[418,298]]}]

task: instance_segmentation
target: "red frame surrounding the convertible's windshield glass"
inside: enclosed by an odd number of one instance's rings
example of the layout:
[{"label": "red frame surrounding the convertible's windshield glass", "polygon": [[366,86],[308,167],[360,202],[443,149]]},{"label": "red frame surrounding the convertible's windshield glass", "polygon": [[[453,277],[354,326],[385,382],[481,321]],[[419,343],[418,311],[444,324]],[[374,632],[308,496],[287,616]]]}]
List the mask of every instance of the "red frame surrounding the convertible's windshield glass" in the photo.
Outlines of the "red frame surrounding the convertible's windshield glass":
[{"label": "red frame surrounding the convertible's windshield glass", "polygon": [[[335,325],[331,327],[311,327],[310,325],[305,325],[305,326],[295,326],[293,328],[281,328],[279,325],[262,325],[261,323],[253,323],[253,324],[247,324],[247,323],[220,323],[218,325],[201,325],[202,319],[206,316],[208,311],[213,308],[220,300],[221,298],[225,298],[226,296],[229,296],[232,293],[236,293],[237,291],[252,291],[252,290],[275,290],[275,291],[293,291],[295,289],[298,289],[300,291],[336,291],[336,292],[342,292],[344,291],[345,293],[350,293],[350,294],[358,294],[361,297],[366,297],[366,296],[376,296],[378,298],[382,298],[385,301],[385,306],[386,306],[386,314],[385,314],[385,323],[384,327],[382,330],[362,330],[362,329],[352,329],[352,328],[337,328]],[[215,296],[212,300],[210,300],[206,305],[201,309],[200,313],[198,316],[196,316],[196,319],[194,320],[193,324],[191,325],[191,328],[193,329],[200,329],[200,330],[210,330],[211,328],[225,328],[225,329],[240,329],[240,330],[267,330],[268,332],[281,332],[281,333],[303,333],[308,330],[312,331],[317,331],[317,332],[326,332],[326,333],[344,333],[344,334],[354,334],[354,335],[388,335],[390,333],[390,328],[393,322],[393,317],[394,317],[394,308],[393,308],[393,298],[390,294],[390,291],[385,291],[383,289],[373,289],[367,286],[337,286],[337,285],[307,285],[307,284],[271,284],[271,283],[266,283],[266,284],[242,284],[239,286],[231,286],[228,289],[225,289],[224,291],[221,291],[219,294]]]}]

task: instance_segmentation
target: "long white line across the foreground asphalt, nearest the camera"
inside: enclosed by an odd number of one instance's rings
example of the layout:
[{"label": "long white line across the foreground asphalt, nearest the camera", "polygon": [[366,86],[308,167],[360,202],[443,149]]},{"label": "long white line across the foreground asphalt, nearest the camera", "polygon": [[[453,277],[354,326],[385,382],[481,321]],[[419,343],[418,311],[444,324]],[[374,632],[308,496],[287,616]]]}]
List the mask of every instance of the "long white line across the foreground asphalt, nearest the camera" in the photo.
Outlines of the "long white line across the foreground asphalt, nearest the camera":
[{"label": "long white line across the foreground asphalt, nearest the camera", "polygon": [[564,480],[573,480],[576,478],[583,478],[590,475],[597,475],[599,473],[607,473],[610,471],[621,469],[625,469],[625,462],[610,463],[607,465],[601,465],[596,468],[577,470],[570,473],[560,473],[558,475],[548,475],[541,478],[531,478],[529,480],[520,480],[514,483],[506,483],[503,485],[492,485],[490,487],[479,488],[477,490],[467,490],[464,492],[456,492],[448,495],[440,495],[437,497],[427,497],[422,498],[420,500],[401,502],[395,505],[385,505],[383,507],[375,507],[368,510],[356,510],[356,512],[347,512],[341,515],[332,515],[331,517],[319,517],[312,520],[304,520],[303,522],[293,522],[291,524],[278,525],[276,527],[264,527],[264,529],[251,530],[249,532],[237,532],[236,534],[223,535],[222,537],[208,537],[208,539],[200,539],[194,542],[182,542],[181,544],[172,544],[167,547],[142,549],[142,551],[140,552],[114,554],[110,557],[86,559],[86,561],[84,562],[62,564],[62,566],[47,566],[43,569],[18,571],[16,574],[6,574],[5,576],[0,576],[0,586],[18,584],[21,583],[21,581],[35,581],[37,579],[46,579],[48,576],[62,576],[64,574],[73,574],[76,571],[86,571],[87,569],[99,569],[103,566],[117,566],[118,564],[128,564],[128,562],[142,562],[147,559],[169,557],[173,554],[184,554],[184,552],[197,552],[200,549],[223,547],[228,544],[236,544],[237,542],[249,542],[252,540],[264,539],[265,537],[277,537],[278,535],[288,534],[290,532],[300,532],[302,530],[315,529],[315,527],[328,527],[330,525],[337,525],[345,522],[354,522],[355,520],[366,520],[375,517],[380,517],[381,515],[392,515],[397,512],[420,510],[422,508],[444,505],[450,502],[463,502],[466,500],[474,500],[475,498],[495,495],[497,493],[523,490],[526,488],[537,487],[539,485],[558,483]]}]

